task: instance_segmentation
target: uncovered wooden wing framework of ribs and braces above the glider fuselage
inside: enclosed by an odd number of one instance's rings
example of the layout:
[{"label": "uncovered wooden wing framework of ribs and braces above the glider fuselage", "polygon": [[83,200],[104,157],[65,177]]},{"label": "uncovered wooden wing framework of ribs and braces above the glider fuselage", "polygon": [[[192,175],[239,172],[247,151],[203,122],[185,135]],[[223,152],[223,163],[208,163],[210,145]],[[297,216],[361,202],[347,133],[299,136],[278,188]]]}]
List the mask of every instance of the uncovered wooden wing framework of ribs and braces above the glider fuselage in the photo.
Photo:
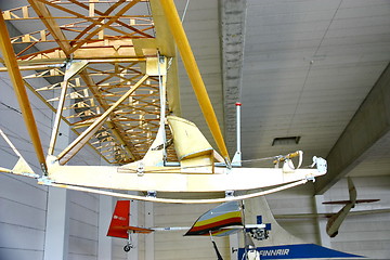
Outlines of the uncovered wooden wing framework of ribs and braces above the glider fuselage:
[{"label": "uncovered wooden wing framework of ribs and braces above the glider fuselage", "polygon": [[[167,98],[160,89],[166,84],[168,58],[173,57],[165,39],[158,41],[155,37],[151,3],[31,0],[29,4],[3,12],[5,21],[23,25],[23,30],[35,29],[10,36],[18,67],[26,70],[25,86],[76,136],[102,120],[89,130],[88,144],[108,162],[122,165],[141,159],[159,127],[160,98]],[[170,56],[164,56],[167,54]],[[152,75],[146,75],[146,63],[152,64]],[[130,94],[129,89],[133,89]],[[122,102],[116,104],[120,99]],[[64,134],[56,128],[49,154],[54,153],[57,134]],[[82,145],[62,151],[61,164]],[[174,159],[174,153],[170,159]]]}]

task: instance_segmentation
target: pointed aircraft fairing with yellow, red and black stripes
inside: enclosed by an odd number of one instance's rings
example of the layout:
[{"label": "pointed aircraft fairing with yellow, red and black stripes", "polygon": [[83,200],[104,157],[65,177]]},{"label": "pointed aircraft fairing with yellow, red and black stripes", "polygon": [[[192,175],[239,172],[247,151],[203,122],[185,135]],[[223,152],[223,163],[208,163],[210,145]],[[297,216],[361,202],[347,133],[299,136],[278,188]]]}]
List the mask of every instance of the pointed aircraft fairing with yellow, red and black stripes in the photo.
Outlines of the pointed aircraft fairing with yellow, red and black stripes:
[{"label": "pointed aircraft fairing with yellow, red and black stripes", "polygon": [[229,202],[200,216],[185,233],[190,235],[225,236],[238,232],[244,226],[242,208],[238,202]]}]

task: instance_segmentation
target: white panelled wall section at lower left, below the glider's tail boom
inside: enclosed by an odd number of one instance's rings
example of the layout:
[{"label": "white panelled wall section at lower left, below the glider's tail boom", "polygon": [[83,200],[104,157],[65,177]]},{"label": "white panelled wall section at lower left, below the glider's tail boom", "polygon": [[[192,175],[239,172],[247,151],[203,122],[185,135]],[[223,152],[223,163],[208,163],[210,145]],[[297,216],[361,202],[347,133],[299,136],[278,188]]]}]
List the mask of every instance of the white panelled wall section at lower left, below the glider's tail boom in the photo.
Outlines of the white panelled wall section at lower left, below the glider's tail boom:
[{"label": "white panelled wall section at lower left, below the glider's tail boom", "polygon": [[46,188],[0,174],[0,259],[43,259]]}]

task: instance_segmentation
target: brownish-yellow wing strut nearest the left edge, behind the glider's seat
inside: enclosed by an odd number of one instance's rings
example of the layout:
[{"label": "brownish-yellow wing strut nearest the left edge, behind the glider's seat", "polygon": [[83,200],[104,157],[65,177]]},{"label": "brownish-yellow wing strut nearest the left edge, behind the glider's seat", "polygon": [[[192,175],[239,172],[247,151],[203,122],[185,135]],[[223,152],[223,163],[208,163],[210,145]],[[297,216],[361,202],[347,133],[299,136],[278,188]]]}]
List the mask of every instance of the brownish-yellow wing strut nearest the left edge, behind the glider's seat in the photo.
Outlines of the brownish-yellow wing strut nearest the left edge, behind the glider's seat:
[{"label": "brownish-yellow wing strut nearest the left edge, behind the glider's seat", "polygon": [[[1,10],[0,10],[1,11]],[[2,12],[1,12],[2,13]],[[38,161],[44,174],[48,172],[42,144],[39,138],[38,128],[34,118],[32,109],[28,100],[27,91],[23,82],[21,72],[16,62],[15,53],[10,41],[10,35],[6,29],[4,17],[0,15],[0,49],[4,57],[5,66],[10,74],[12,84],[14,86],[17,102],[20,104],[27,131],[31,138],[34,148],[37,153]]]}]

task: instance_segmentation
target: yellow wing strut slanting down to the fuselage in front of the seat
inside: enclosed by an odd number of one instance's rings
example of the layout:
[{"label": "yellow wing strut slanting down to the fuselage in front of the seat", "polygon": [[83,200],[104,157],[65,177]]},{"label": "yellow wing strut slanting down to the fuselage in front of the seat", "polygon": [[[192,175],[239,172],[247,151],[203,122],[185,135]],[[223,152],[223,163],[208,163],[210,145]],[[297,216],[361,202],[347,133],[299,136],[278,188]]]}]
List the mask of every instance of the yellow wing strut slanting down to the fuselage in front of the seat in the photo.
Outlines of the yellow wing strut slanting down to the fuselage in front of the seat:
[{"label": "yellow wing strut slanting down to the fuselage in front of the seat", "polygon": [[202,79],[199,68],[196,64],[194,53],[191,50],[188,39],[186,38],[174,2],[173,0],[161,0],[160,3],[166,14],[169,27],[171,29],[178,49],[180,51],[180,55],[183,60],[184,67],[187,72],[190,81],[193,86],[194,92],[196,94],[204,117],[218,145],[218,148],[221,152],[221,155],[223,156],[225,162],[230,166],[231,161],[230,161],[227,148],[224,143],[216,113],[212,108],[210,99],[207,94],[205,83]]}]

